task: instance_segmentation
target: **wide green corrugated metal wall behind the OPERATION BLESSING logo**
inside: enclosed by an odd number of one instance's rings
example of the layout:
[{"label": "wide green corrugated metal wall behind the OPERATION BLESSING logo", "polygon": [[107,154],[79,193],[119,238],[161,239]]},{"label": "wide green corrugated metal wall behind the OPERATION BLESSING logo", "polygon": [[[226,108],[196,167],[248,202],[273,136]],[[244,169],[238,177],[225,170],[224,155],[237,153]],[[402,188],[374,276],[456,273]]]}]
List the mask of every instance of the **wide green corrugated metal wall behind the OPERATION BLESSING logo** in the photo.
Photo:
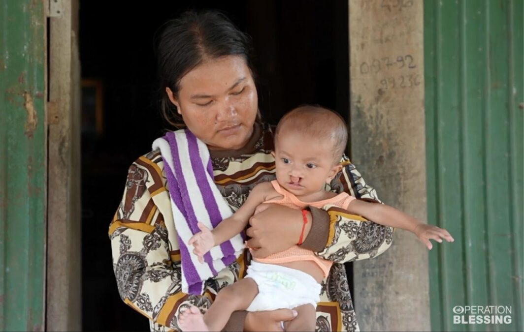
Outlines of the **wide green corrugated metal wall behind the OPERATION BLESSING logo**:
[{"label": "wide green corrugated metal wall behind the OPERATION BLESSING logo", "polygon": [[[433,330],[522,330],[522,0],[425,0]],[[512,307],[510,325],[453,324],[456,305]]]}]

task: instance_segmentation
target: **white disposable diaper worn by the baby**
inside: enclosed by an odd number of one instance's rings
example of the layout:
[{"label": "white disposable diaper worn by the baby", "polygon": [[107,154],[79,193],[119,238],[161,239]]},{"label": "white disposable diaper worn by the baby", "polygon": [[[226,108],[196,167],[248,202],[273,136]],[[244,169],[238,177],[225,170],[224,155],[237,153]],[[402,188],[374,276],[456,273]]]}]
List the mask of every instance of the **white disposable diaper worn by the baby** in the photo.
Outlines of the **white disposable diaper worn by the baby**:
[{"label": "white disposable diaper worn by the baby", "polygon": [[309,274],[280,265],[251,261],[246,278],[258,285],[258,294],[247,311],[292,309],[320,301],[321,286]]}]

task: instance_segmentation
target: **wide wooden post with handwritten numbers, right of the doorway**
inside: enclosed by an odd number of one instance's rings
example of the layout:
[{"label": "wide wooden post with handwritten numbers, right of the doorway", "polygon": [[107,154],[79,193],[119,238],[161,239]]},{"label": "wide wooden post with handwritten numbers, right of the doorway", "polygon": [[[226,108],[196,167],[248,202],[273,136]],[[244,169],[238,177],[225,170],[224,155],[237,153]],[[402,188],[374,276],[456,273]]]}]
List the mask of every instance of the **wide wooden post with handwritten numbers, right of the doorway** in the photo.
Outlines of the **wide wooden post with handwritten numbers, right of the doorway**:
[{"label": "wide wooden post with handwritten numbers, right of the doorway", "polygon": [[[351,0],[352,161],[384,203],[426,220],[421,0]],[[355,262],[363,330],[429,330],[427,249],[397,230],[383,256]]]}]

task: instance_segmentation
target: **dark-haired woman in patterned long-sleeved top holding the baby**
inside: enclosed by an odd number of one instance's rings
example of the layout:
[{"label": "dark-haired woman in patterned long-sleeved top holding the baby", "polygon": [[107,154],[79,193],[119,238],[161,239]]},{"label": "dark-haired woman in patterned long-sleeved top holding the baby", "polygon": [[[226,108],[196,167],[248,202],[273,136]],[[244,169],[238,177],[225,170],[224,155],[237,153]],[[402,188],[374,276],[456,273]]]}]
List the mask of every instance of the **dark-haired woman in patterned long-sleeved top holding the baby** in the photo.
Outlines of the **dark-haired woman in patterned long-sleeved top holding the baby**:
[{"label": "dark-haired woman in patterned long-sleeved top holding the baby", "polygon": [[[275,179],[273,133],[258,112],[249,38],[221,14],[188,12],[166,24],[157,51],[163,115],[205,143],[215,183],[237,209],[257,183]],[[332,190],[377,200],[355,167],[347,159],[343,165]],[[221,287],[243,278],[250,260],[244,251],[205,283],[203,296],[181,292],[180,247],[166,186],[160,152],[138,158],[129,168],[109,230],[118,291],[126,304],[150,319],[152,330],[178,329],[178,314],[190,305],[209,307]],[[311,207],[301,246],[337,263],[374,257],[389,248],[391,228],[348,217],[340,209]],[[258,249],[257,257],[296,245],[303,225],[300,211],[271,204],[260,206],[249,223],[247,245]],[[342,264],[333,265],[324,285],[318,327],[358,329]],[[282,330],[280,322],[293,315],[288,309],[236,312],[225,330]]]}]

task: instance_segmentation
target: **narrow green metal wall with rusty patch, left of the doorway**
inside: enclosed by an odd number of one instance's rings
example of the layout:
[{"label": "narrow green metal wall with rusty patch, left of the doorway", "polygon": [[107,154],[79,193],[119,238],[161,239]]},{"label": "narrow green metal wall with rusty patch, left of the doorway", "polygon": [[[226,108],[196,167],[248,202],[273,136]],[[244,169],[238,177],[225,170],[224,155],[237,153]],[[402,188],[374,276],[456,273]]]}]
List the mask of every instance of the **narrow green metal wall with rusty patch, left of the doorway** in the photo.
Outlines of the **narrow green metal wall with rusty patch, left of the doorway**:
[{"label": "narrow green metal wall with rusty patch, left of the doorway", "polygon": [[43,3],[0,2],[0,330],[6,331],[44,328]]}]

